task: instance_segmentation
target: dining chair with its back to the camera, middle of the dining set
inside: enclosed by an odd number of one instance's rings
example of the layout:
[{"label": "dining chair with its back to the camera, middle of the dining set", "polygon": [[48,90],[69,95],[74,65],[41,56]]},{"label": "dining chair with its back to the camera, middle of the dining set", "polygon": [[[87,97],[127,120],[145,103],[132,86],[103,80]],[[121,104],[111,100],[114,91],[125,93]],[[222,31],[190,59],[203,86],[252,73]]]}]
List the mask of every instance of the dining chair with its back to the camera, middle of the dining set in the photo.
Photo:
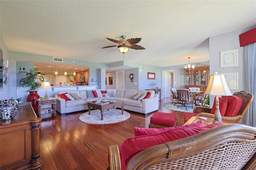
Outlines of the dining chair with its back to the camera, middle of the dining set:
[{"label": "dining chair with its back to the camera, middle of the dining set", "polygon": [[[177,107],[194,107],[194,93],[189,93],[188,89],[178,89],[178,99],[181,103],[181,105],[177,105]],[[191,105],[186,105],[187,102],[190,102]]]}]

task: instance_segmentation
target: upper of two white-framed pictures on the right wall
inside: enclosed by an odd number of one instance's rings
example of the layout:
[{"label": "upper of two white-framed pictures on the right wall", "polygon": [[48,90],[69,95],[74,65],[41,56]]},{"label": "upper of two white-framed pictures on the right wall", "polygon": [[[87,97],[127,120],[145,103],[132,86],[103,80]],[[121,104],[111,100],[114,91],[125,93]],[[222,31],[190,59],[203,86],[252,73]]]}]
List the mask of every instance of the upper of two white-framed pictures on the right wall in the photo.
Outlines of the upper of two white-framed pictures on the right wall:
[{"label": "upper of two white-framed pictures on the right wall", "polygon": [[238,49],[220,52],[220,67],[238,66]]}]

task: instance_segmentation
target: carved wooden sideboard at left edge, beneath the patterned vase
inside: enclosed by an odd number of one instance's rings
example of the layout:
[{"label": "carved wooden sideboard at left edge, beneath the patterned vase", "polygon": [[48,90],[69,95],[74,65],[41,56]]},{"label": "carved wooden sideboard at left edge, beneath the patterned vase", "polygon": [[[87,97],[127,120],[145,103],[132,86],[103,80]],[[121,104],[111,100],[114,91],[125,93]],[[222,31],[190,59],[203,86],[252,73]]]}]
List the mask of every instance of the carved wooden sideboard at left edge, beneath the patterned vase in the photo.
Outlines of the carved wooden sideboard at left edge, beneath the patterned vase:
[{"label": "carved wooden sideboard at left edge, beneath the patterned vase", "polygon": [[21,103],[14,119],[0,121],[0,169],[41,169],[38,118],[29,102]]}]

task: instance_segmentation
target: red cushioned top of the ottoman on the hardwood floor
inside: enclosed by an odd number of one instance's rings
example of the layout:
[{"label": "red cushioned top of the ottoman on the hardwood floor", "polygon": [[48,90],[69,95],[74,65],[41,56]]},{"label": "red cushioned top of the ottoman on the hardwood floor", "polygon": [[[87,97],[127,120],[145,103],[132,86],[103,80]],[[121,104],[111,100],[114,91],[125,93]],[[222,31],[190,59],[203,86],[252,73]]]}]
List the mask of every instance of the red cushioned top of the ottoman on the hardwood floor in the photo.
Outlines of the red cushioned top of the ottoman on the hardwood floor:
[{"label": "red cushioned top of the ottoman on the hardwood floor", "polygon": [[175,122],[176,122],[175,113],[156,112],[152,117],[150,117],[150,123],[155,125],[173,127]]}]

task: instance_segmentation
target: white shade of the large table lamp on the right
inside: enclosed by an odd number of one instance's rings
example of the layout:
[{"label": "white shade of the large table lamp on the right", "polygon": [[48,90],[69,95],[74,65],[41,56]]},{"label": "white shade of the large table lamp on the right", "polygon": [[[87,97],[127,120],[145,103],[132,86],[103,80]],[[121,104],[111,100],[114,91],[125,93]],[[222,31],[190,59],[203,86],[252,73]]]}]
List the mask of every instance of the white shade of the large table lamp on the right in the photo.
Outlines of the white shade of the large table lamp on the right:
[{"label": "white shade of the large table lamp on the right", "polygon": [[224,74],[210,75],[210,81],[204,92],[206,95],[232,96]]}]

